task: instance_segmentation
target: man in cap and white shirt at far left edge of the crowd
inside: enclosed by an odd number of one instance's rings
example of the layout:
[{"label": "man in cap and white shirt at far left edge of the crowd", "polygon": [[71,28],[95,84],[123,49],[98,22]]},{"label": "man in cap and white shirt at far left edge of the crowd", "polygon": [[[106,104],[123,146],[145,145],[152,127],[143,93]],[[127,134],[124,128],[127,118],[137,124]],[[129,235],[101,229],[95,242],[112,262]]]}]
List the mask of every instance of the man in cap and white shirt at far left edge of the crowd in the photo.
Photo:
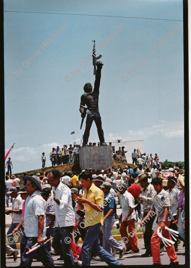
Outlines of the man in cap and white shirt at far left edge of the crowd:
[{"label": "man in cap and white shirt at far left edge of the crowd", "polygon": [[[12,209],[5,210],[6,215],[12,214],[12,223],[7,231],[7,241],[12,248],[17,249],[12,231],[15,229],[15,227],[17,227],[18,223],[20,223],[22,219],[22,199],[21,196],[18,195],[17,188],[14,186],[9,189],[7,194],[10,194],[10,196],[13,198]],[[19,242],[21,241],[21,238],[22,235],[19,236]]]}]

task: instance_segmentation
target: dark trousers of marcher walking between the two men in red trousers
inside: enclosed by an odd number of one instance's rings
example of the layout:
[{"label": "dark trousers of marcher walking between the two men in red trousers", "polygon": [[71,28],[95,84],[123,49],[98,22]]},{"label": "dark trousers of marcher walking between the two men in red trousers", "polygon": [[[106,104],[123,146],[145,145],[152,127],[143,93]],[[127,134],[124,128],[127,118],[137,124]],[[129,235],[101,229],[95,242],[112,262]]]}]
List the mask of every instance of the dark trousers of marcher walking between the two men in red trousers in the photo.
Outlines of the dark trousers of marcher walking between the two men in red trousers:
[{"label": "dark trousers of marcher walking between the two men in red trousers", "polygon": [[[147,216],[148,212],[144,212],[143,213],[143,218],[145,218]],[[144,244],[145,244],[145,248],[146,248],[146,252],[148,254],[151,254],[151,247],[150,247],[150,239],[152,237],[153,234],[153,230],[152,230],[152,224],[154,222],[156,216],[149,216],[150,220],[147,220],[147,222],[145,222],[145,232],[143,235],[144,238]]]}]

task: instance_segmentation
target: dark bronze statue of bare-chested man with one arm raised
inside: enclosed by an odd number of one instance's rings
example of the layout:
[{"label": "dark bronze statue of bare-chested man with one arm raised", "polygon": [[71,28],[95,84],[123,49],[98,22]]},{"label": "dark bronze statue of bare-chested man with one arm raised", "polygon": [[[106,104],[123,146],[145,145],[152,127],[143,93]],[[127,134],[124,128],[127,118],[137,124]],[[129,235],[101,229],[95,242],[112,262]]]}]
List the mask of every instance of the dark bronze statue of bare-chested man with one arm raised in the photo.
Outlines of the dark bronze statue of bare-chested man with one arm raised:
[{"label": "dark bronze statue of bare-chested man with one arm raised", "polygon": [[81,102],[80,102],[80,112],[82,118],[85,118],[86,109],[84,108],[85,105],[87,106],[87,118],[85,123],[85,132],[83,136],[83,145],[88,146],[88,138],[89,138],[89,132],[91,125],[93,123],[93,120],[95,121],[97,130],[98,130],[98,136],[100,139],[100,145],[107,145],[104,139],[104,131],[102,129],[102,120],[98,108],[98,101],[99,101],[99,89],[100,89],[100,79],[101,79],[101,69],[103,66],[102,62],[97,62],[97,74],[95,76],[95,83],[94,83],[94,89],[92,91],[92,86],[90,83],[86,83],[84,86],[85,93],[81,96]]}]

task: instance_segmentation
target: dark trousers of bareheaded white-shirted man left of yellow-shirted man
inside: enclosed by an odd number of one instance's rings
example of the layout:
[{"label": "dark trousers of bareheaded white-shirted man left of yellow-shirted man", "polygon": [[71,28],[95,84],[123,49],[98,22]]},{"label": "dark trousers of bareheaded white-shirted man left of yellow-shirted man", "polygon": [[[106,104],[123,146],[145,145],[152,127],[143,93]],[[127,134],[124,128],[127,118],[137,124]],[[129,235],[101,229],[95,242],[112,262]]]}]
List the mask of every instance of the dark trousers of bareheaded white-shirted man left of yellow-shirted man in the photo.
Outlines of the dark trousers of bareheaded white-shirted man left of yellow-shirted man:
[{"label": "dark trousers of bareheaded white-shirted man left of yellow-shirted man", "polygon": [[[52,247],[64,259],[64,266],[74,266],[74,258],[70,248],[70,241],[72,237],[74,226],[55,227],[53,232]],[[60,241],[62,240],[62,246]]]}]

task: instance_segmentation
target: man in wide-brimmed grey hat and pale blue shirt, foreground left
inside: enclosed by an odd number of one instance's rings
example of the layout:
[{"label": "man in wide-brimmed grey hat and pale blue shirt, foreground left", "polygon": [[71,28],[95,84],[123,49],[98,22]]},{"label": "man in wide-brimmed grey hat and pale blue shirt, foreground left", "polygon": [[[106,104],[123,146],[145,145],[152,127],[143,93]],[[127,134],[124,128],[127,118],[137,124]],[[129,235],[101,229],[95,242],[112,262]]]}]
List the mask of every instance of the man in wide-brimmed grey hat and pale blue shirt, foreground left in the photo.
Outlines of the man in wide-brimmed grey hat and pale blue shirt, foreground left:
[{"label": "man in wide-brimmed grey hat and pale blue shirt, foreground left", "polygon": [[[25,176],[27,179],[25,190],[28,197],[25,200],[24,209],[24,233],[26,236],[26,246],[22,254],[21,267],[30,267],[35,255],[42,262],[43,266],[54,266],[53,259],[48,252],[43,237],[46,233],[46,202],[43,200],[39,191],[42,192],[41,180],[37,176]],[[26,254],[28,248],[36,243],[41,246]]]}]

